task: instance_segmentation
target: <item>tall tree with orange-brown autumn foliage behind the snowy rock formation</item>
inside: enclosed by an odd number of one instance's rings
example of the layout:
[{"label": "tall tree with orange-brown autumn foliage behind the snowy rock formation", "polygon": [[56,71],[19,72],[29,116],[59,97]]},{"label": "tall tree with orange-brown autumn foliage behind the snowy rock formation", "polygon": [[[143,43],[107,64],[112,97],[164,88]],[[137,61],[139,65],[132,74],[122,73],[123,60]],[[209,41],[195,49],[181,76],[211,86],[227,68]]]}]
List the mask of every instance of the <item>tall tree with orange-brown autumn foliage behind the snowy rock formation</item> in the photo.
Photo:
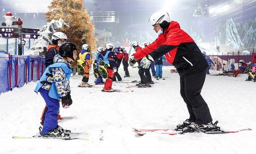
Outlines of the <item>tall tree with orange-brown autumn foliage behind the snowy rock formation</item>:
[{"label": "tall tree with orange-brown autumn foliage behind the snowy rock formation", "polygon": [[68,37],[68,42],[77,45],[78,52],[83,44],[88,44],[90,50],[96,50],[94,26],[86,9],[82,6],[83,0],[52,0],[49,11],[45,13],[47,22],[62,18],[68,25],[64,25],[60,32]]}]

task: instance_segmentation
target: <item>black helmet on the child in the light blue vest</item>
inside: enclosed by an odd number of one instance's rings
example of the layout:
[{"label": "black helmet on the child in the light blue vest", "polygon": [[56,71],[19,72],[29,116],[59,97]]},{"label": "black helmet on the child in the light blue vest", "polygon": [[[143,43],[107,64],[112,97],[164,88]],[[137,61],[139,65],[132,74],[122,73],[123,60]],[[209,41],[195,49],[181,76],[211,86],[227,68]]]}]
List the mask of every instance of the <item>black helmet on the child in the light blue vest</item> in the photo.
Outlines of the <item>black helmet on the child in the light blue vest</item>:
[{"label": "black helmet on the child in the light blue vest", "polygon": [[64,43],[60,46],[59,55],[62,57],[69,57],[72,60],[74,60],[74,58],[73,58],[73,50],[74,49],[77,50],[76,44],[70,43],[70,42]]}]

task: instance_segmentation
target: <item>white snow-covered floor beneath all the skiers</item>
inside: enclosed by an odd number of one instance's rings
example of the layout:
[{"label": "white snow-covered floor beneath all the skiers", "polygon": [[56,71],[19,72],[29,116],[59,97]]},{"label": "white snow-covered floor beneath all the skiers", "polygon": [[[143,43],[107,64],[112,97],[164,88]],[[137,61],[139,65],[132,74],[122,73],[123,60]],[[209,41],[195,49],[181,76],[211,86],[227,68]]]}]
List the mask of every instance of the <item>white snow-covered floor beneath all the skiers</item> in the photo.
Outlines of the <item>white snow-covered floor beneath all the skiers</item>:
[{"label": "white snow-covered floor beneath all the skiers", "polygon": [[[130,68],[130,78],[139,80],[138,68]],[[120,75],[124,75],[122,66]],[[94,84],[90,72],[89,83]],[[211,74],[219,72],[210,70]],[[174,128],[189,117],[182,97],[178,73],[163,67],[165,80],[154,80],[152,88],[126,88],[133,83],[113,83],[114,89],[129,92],[104,93],[100,88],[77,88],[82,76],[70,79],[73,104],[60,108],[64,120],[59,125],[72,132],[84,132],[90,140],[12,139],[12,136],[39,135],[40,116],[45,106],[34,92],[36,82],[0,95],[0,154],[256,154],[256,83],[237,78],[206,76],[202,96],[208,103],[213,122],[222,130],[251,128],[233,134],[146,134],[134,128]],[[132,92],[133,90],[133,92]],[[91,92],[91,93],[89,93]],[[103,140],[98,139],[100,130]]]}]

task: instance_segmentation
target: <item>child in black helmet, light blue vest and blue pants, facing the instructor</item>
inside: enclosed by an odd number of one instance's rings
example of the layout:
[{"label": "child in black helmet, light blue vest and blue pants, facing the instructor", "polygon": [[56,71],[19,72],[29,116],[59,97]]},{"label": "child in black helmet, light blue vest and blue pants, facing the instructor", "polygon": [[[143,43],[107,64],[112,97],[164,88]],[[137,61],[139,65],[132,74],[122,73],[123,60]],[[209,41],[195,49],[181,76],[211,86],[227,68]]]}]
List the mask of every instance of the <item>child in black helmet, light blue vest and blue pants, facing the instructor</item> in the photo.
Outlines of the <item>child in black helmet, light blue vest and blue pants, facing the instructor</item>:
[{"label": "child in black helmet, light blue vest and blue pants, facing the instructor", "polygon": [[48,106],[43,128],[39,129],[41,135],[60,136],[64,134],[63,128],[58,126],[59,100],[63,108],[68,108],[72,104],[69,86],[72,72],[70,62],[77,58],[76,50],[76,45],[73,43],[62,44],[58,51],[59,54],[54,57],[54,63],[46,68],[36,85],[34,91],[40,92]]}]

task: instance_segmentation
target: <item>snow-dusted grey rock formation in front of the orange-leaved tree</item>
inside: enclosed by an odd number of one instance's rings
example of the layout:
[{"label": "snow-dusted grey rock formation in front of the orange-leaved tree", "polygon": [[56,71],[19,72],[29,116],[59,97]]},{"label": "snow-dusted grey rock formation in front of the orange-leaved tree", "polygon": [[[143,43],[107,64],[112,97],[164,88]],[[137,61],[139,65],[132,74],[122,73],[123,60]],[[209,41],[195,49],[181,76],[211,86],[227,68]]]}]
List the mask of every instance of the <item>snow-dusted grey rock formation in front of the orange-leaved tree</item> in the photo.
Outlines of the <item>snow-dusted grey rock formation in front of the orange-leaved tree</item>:
[{"label": "snow-dusted grey rock formation in front of the orange-leaved tree", "polygon": [[46,49],[49,44],[51,44],[52,34],[62,25],[66,24],[62,18],[57,20],[52,20],[42,27],[40,30],[40,36],[36,41],[33,42],[31,48],[26,52],[27,55],[36,55],[44,57],[46,54]]}]

